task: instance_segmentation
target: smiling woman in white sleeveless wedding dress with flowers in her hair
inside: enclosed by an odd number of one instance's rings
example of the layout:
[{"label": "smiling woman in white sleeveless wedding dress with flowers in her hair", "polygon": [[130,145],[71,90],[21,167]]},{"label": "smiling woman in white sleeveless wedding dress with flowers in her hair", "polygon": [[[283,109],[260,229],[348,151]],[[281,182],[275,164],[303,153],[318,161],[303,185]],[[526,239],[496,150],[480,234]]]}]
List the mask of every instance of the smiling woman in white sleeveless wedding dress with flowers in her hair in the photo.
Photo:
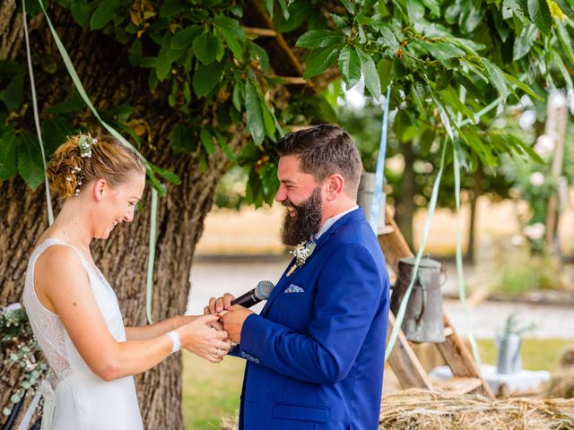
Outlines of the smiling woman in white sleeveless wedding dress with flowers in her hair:
[{"label": "smiling woman in white sleeveless wedding dress with flowers in her hair", "polygon": [[30,325],[56,376],[55,409],[45,406],[42,427],[141,429],[133,375],[179,348],[219,362],[230,348],[227,333],[217,315],[124,327],[90,243],[134,219],[145,169],[132,150],[109,136],[79,134],[57,149],[47,174],[65,202],[30,256],[23,293]]}]

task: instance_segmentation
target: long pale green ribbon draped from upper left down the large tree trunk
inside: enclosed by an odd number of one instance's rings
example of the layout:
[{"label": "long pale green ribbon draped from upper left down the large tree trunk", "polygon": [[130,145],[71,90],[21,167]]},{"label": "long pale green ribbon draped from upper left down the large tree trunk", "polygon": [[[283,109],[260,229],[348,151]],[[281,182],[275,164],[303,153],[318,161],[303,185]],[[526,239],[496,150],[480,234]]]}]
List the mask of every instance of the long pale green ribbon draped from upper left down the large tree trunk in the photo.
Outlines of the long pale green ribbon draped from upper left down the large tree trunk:
[{"label": "long pale green ribbon draped from upper left down the large tree trunk", "polygon": [[[122,142],[124,145],[126,145],[127,148],[129,148],[130,150],[133,150],[137,154],[137,156],[142,160],[148,176],[150,176],[153,179],[153,170],[152,170],[152,165],[150,164],[150,162],[143,157],[143,155],[140,153],[139,150],[135,149],[134,145],[132,145],[130,142],[127,142],[126,139],[124,138],[124,136],[122,136],[120,133],[117,133],[117,131],[114,127],[112,127],[111,125],[106,123],[101,118],[100,114],[98,113],[96,108],[91,103],[91,100],[88,97],[86,90],[83,88],[83,84],[80,81],[78,73],[76,73],[76,71],[75,71],[74,64],[72,64],[72,60],[70,59],[70,56],[68,55],[68,53],[64,47],[64,44],[62,43],[62,40],[60,40],[60,38],[58,37],[56,29],[54,29],[54,26],[52,25],[52,22],[50,21],[48,13],[46,12],[46,9],[44,8],[44,4],[42,4],[42,2],[40,0],[38,0],[38,3],[42,9],[42,12],[44,13],[44,16],[46,16],[46,22],[48,22],[48,27],[50,29],[50,32],[52,33],[52,37],[54,38],[54,41],[56,42],[57,49],[58,49],[58,51],[60,51],[60,55],[62,56],[62,59],[64,60],[65,68],[67,69],[68,73],[70,74],[70,77],[72,78],[72,81],[74,82],[75,88],[80,93],[80,96],[82,97],[86,106],[90,108],[93,116],[95,116],[98,119],[98,121],[100,121],[100,124],[103,125],[103,127],[112,136],[114,136],[119,142]],[[150,216],[150,219],[151,219],[150,246],[152,246],[152,245],[154,245],[154,246],[153,246],[153,248],[150,247],[150,256],[148,259],[148,266],[147,266],[148,276],[147,276],[145,302],[146,302],[146,315],[147,315],[148,323],[152,323],[152,291],[153,291],[152,281],[153,281],[153,266],[154,266],[154,260],[155,260],[155,237],[156,237],[156,221],[155,220],[157,219],[157,194],[158,194],[157,190],[154,187],[152,187],[152,210],[151,210],[151,216]],[[155,201],[155,204],[153,204],[154,201]],[[152,273],[152,274],[150,275],[150,273]],[[148,309],[148,303],[149,303],[149,309]]]}]

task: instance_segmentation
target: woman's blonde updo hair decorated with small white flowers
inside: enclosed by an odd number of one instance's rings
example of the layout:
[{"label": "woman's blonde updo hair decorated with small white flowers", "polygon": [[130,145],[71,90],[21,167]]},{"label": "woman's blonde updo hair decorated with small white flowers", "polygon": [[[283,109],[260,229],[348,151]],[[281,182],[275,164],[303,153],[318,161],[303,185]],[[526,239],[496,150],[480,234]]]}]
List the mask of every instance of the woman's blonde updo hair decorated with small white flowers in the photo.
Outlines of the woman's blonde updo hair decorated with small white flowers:
[{"label": "woman's blonde updo hair decorated with small white flowers", "polygon": [[83,185],[100,178],[111,186],[125,183],[134,172],[145,172],[137,154],[112,136],[96,136],[91,156],[82,157],[79,142],[86,134],[69,136],[48,163],[46,173],[52,191],[63,198],[77,195]]}]

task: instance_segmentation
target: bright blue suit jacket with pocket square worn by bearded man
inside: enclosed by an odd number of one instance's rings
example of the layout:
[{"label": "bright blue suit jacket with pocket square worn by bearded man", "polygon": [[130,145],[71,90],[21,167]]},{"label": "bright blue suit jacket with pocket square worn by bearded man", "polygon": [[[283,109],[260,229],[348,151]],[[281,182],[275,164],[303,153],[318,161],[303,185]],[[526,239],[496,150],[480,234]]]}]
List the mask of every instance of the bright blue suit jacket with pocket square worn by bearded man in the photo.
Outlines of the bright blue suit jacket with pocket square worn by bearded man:
[{"label": "bright blue suit jacket with pocket square worn by bearded man", "polygon": [[293,263],[241,330],[239,428],[378,429],[388,275],[361,209],[338,219],[287,276]]}]

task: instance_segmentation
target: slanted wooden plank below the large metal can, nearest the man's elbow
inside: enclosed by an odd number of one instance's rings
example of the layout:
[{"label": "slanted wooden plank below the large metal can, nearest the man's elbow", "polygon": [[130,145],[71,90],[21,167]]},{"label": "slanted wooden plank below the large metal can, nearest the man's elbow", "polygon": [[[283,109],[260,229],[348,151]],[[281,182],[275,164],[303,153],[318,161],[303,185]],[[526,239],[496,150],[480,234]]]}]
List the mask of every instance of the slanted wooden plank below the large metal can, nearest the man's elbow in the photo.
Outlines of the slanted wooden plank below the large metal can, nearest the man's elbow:
[{"label": "slanted wooden plank below the large metal can, nearest the man's elbow", "polygon": [[[395,327],[395,315],[388,313],[387,342]],[[398,332],[395,348],[388,357],[388,364],[396,374],[396,378],[403,389],[407,388],[424,388],[432,389],[431,379],[424,371],[419,358],[413,352],[413,348],[404,337],[403,331]]]}]

